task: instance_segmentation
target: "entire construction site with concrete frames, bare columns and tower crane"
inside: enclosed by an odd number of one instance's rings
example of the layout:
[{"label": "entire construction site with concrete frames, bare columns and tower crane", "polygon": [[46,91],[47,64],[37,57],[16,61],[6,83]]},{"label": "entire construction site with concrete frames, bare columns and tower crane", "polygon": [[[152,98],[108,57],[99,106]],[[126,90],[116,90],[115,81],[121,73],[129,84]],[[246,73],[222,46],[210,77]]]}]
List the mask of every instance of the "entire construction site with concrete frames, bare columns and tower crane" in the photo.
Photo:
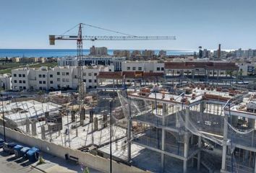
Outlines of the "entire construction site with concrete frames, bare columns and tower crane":
[{"label": "entire construction site with concrete frames, bare columns and tower crane", "polygon": [[168,83],[163,73],[141,71],[101,72],[87,92],[82,40],[175,37],[83,37],[78,26],[78,35],[49,36],[51,45],[77,41],[78,91],[3,102],[8,128],[149,172],[256,173],[255,92],[227,79],[195,83],[179,75]]}]

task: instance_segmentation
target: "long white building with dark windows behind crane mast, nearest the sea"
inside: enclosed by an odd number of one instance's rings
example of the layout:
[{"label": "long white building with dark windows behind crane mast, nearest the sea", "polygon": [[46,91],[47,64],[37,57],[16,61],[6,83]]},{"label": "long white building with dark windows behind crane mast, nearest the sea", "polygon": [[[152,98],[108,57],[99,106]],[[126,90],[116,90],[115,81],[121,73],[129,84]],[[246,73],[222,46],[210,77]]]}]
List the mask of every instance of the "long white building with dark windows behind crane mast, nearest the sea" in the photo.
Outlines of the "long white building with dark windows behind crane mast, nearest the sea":
[{"label": "long white building with dark windows behind crane mast, nearest the sea", "polygon": [[[114,71],[121,71],[121,63],[125,61],[125,57],[114,56],[84,56],[82,58],[82,66],[102,65],[114,66]],[[78,66],[77,57],[58,58],[58,66]]]}]

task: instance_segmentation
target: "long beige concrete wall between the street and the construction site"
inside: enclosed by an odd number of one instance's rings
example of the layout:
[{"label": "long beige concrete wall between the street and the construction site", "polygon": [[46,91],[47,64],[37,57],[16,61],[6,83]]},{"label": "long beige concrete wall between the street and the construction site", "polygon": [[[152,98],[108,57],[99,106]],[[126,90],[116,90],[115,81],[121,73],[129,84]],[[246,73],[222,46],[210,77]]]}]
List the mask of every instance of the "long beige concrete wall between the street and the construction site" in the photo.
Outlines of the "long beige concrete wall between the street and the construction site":
[{"label": "long beige concrete wall between the street and the construction site", "polygon": [[[0,126],[0,133],[3,134],[3,127]],[[94,156],[93,154],[83,153],[82,151],[73,150],[71,148],[67,148],[64,146],[59,146],[54,143],[50,143],[48,141],[43,141],[39,138],[34,138],[32,136],[27,136],[23,133],[17,132],[15,130],[6,128],[6,135],[8,138],[12,138],[14,141],[19,141],[20,143],[24,143],[28,146],[36,146],[40,148],[41,151],[52,154],[54,156],[59,156],[61,158],[65,158],[65,154],[69,154],[69,156],[75,156],[79,158],[80,164],[85,164],[88,167],[92,167],[93,169],[97,169],[101,172],[109,172],[109,159],[105,159],[100,156]],[[145,172],[136,167],[129,167],[126,164],[121,164],[116,161],[113,161],[112,164],[113,172]]]}]

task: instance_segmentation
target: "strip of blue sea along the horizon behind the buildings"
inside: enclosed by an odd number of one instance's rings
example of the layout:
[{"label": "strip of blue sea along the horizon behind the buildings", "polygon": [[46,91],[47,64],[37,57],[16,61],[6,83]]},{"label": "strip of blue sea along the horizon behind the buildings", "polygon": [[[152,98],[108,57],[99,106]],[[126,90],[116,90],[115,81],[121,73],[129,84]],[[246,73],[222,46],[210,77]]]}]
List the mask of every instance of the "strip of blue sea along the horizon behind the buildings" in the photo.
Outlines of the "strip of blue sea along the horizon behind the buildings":
[{"label": "strip of blue sea along the horizon behind the buildings", "polygon": [[[132,50],[130,50],[132,52]],[[84,49],[83,54],[88,55],[90,50]],[[114,50],[108,50],[108,55],[113,55]],[[158,54],[159,50],[155,50]],[[166,50],[168,56],[193,55],[192,50]],[[64,57],[76,56],[76,49],[0,49],[0,57]]]}]

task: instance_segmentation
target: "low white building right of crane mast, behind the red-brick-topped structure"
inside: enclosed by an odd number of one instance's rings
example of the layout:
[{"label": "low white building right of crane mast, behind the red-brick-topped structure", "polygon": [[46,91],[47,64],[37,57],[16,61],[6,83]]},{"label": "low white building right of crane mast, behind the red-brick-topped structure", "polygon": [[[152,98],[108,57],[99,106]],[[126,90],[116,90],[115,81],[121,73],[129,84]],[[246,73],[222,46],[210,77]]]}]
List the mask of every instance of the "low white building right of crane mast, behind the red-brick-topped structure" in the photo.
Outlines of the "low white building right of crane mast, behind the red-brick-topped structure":
[{"label": "low white building right of crane mast, behind the red-brick-topped structure", "polygon": [[158,61],[125,61],[122,71],[164,72],[164,63]]}]

